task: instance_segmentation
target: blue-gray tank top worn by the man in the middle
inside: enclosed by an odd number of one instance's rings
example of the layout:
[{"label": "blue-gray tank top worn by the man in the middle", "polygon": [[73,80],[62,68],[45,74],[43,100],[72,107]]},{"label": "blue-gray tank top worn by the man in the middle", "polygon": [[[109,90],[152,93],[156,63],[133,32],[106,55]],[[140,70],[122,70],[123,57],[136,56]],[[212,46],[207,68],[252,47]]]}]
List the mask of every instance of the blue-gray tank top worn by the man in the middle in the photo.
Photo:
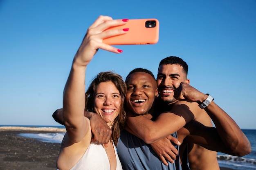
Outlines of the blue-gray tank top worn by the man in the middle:
[{"label": "blue-gray tank top worn by the man in the middle", "polygon": [[[172,136],[177,138],[177,133]],[[179,150],[179,146],[175,147]],[[149,144],[125,130],[119,137],[117,152],[124,170],[181,170],[180,159],[164,165]]]}]

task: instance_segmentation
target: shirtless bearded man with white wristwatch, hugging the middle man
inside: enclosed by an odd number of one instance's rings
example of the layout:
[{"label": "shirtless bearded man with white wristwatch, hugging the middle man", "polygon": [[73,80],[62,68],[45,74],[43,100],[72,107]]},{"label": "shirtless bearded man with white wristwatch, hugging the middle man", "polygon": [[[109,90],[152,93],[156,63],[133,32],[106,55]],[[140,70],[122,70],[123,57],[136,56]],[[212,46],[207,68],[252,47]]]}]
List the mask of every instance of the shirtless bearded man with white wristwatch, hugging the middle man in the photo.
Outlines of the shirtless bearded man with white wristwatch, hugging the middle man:
[{"label": "shirtless bearded man with white wristwatch, hugging the middle man", "polygon": [[[178,57],[167,57],[160,62],[157,75],[159,97],[155,101],[154,107],[155,115],[159,116],[155,121],[152,121],[145,114],[138,116],[135,111],[135,114],[129,113],[127,124],[132,131],[130,129],[128,131],[151,144],[180,129],[178,139],[183,143],[180,147],[180,156],[185,158],[182,159],[182,165],[185,166],[183,169],[189,168],[187,167],[187,150],[185,148],[186,144],[189,143],[193,146],[190,147],[191,145],[189,145],[190,149],[192,148],[189,161],[193,169],[218,170],[216,152],[212,150],[243,156],[251,152],[249,140],[234,120],[212,101],[213,98],[210,95],[203,94],[189,85],[189,79],[186,78],[187,70],[186,63]],[[139,79],[141,78],[140,75]],[[131,88],[134,89],[134,93],[131,93],[133,96],[130,96],[130,102],[127,100],[129,96],[126,95],[126,104],[128,103],[131,108],[134,107],[132,101],[134,101],[135,95],[140,95],[136,92],[135,87]],[[143,94],[142,91],[141,94]],[[188,102],[177,99],[186,99]],[[143,106],[142,102],[140,106]],[[129,109],[131,109],[130,107],[128,106]],[[218,131],[211,127],[212,123],[209,116],[213,118]],[[193,121],[190,122],[191,120]],[[194,120],[201,122],[201,124]],[[195,144],[204,146],[204,148]],[[170,159],[168,153],[161,153],[161,150],[155,151],[158,155],[160,153],[160,158],[162,154],[162,157]],[[161,160],[165,162],[163,158]]]}]

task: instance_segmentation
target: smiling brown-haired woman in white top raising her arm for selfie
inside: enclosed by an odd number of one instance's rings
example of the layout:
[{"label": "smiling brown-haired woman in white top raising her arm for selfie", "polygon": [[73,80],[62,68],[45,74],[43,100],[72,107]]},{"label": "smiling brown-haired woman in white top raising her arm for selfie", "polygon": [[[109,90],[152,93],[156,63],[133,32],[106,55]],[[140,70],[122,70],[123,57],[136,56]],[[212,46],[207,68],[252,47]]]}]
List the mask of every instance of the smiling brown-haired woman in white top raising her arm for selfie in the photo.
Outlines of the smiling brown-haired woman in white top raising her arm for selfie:
[{"label": "smiling brown-haired woman in white top raising her arm for selfie", "polygon": [[[115,144],[124,127],[126,85],[118,74],[101,72],[85,94],[85,72],[99,48],[120,53],[121,50],[102,43],[102,39],[125,34],[124,30],[104,31],[126,24],[127,20],[112,20],[100,16],[89,28],[74,57],[63,94],[63,119],[67,133],[63,138],[56,166],[58,169],[120,170],[121,163]],[[85,96],[84,96],[85,94]],[[112,129],[108,147],[91,142],[90,121],[84,110],[99,114]],[[114,144],[115,143],[115,144]]]}]

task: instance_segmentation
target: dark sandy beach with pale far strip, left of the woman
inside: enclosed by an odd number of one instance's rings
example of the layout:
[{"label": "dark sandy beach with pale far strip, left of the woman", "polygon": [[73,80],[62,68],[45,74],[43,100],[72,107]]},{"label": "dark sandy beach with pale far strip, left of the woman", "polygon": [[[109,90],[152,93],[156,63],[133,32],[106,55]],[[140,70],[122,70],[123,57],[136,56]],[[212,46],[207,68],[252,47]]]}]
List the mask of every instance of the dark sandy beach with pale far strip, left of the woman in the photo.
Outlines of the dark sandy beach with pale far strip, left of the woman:
[{"label": "dark sandy beach with pale far strip, left of the woman", "polygon": [[0,170],[56,170],[55,163],[61,144],[40,142],[18,135],[52,132],[65,132],[65,129],[0,127]]}]

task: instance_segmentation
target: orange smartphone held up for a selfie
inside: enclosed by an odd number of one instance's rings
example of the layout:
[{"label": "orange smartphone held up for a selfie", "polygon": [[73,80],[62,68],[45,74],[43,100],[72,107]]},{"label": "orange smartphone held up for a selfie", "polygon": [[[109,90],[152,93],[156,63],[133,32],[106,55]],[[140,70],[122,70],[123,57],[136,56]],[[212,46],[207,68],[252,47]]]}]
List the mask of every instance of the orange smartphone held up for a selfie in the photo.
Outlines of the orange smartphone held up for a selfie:
[{"label": "orange smartphone held up for a selfie", "polygon": [[135,19],[129,20],[122,26],[114,26],[110,29],[129,28],[123,35],[117,35],[103,39],[103,43],[109,45],[140,45],[156,44],[159,38],[159,21],[157,19]]}]

